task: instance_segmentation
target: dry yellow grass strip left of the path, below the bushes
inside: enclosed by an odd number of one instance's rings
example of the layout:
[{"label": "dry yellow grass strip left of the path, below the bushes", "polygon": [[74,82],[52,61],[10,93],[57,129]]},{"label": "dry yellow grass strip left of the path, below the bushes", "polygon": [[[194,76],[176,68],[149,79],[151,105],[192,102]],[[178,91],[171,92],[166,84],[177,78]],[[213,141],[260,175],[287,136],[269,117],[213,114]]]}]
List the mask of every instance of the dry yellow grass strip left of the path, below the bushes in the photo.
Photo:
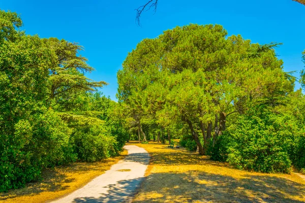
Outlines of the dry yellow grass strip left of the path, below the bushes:
[{"label": "dry yellow grass strip left of the path, below the bushes", "polygon": [[42,181],[28,183],[25,188],[0,193],[0,202],[48,202],[65,196],[104,174],[127,153],[125,150],[120,156],[98,162],[75,162],[68,166],[48,168],[42,173]]}]

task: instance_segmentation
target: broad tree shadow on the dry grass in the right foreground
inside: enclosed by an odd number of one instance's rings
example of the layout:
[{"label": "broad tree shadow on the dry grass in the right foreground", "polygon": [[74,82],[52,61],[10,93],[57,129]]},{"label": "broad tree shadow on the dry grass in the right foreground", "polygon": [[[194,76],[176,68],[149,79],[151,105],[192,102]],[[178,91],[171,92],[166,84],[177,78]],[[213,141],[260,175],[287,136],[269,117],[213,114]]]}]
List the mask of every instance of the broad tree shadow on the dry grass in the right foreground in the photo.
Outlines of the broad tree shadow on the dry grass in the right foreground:
[{"label": "broad tree shadow on the dry grass in the right foreground", "polygon": [[235,179],[205,172],[157,173],[147,177],[134,202],[303,202],[302,184],[278,177]]}]

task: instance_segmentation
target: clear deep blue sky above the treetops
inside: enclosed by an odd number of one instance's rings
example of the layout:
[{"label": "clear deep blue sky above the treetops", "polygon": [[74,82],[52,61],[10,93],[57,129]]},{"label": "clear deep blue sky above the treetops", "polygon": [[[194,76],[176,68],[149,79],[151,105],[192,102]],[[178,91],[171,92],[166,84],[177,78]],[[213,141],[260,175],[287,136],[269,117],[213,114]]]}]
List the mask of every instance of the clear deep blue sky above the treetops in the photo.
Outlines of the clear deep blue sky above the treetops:
[{"label": "clear deep blue sky above the treetops", "polygon": [[155,38],[177,25],[221,24],[229,35],[240,34],[253,43],[281,42],[277,53],[284,60],[284,70],[299,72],[304,66],[305,6],[301,4],[291,0],[159,0],[157,13],[143,13],[142,27],[138,27],[134,9],[146,2],[2,0],[0,9],[20,14],[29,35],[56,37],[84,46],[81,54],[96,69],[88,77],[108,82],[101,91],[114,100],[116,72],[127,53],[142,39]]}]

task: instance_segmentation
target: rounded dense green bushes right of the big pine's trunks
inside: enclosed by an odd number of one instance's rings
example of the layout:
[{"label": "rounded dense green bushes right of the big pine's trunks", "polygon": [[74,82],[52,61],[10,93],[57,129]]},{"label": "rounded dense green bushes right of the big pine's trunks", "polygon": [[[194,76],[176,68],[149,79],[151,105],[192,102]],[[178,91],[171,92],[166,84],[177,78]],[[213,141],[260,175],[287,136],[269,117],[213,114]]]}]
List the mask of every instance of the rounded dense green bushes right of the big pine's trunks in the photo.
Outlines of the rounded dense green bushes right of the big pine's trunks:
[{"label": "rounded dense green bushes right of the big pine's trunks", "polygon": [[239,169],[289,173],[292,164],[304,167],[301,133],[290,116],[256,109],[238,116],[210,147],[209,155]]}]

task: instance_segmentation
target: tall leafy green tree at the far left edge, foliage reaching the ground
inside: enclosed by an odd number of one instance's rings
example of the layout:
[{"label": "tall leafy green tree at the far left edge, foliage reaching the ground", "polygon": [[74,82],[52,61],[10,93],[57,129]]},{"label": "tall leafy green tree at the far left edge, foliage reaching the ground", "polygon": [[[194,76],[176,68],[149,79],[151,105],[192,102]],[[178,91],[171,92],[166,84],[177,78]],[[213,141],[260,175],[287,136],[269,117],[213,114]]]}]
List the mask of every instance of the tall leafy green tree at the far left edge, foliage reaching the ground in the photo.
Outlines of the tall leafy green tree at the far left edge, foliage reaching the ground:
[{"label": "tall leafy green tree at the far left edge, foliage reaching the ground", "polygon": [[44,107],[54,54],[38,36],[19,31],[21,24],[16,13],[0,11],[0,191],[69,159],[71,131]]}]

